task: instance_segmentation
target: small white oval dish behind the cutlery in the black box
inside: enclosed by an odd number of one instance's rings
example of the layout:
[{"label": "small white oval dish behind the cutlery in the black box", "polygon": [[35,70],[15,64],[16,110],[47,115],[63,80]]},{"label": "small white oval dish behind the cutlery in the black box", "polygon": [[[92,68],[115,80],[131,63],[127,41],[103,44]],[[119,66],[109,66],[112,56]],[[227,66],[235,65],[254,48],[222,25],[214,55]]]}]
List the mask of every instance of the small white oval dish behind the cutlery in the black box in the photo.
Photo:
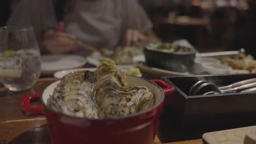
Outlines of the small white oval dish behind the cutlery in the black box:
[{"label": "small white oval dish behind the cutlery in the black box", "polygon": [[232,70],[231,67],[223,64],[205,63],[202,64],[202,66],[208,73],[211,74],[229,74],[229,71]]}]

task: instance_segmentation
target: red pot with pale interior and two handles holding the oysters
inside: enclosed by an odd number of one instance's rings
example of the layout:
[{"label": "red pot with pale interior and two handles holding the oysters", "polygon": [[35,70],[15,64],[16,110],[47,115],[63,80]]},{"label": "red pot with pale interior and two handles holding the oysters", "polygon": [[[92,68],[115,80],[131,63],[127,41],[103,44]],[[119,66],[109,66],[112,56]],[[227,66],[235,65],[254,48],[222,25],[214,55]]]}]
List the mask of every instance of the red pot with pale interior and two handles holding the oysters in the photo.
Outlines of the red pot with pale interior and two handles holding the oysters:
[{"label": "red pot with pale interior and two handles holding the oysters", "polygon": [[[53,111],[46,105],[49,95],[60,81],[46,87],[36,95],[22,99],[23,112],[27,116],[44,115],[48,122],[51,140],[54,144],[66,143],[111,143],[111,144],[153,144],[160,112],[164,107],[165,95],[172,95],[174,88],[161,80],[148,81],[141,77],[127,75],[131,86],[146,86],[154,94],[154,106],[135,115],[117,118],[88,119],[67,116]],[[158,85],[156,85],[157,83]],[[162,87],[162,88],[161,88]],[[42,105],[32,106],[38,100]]]}]

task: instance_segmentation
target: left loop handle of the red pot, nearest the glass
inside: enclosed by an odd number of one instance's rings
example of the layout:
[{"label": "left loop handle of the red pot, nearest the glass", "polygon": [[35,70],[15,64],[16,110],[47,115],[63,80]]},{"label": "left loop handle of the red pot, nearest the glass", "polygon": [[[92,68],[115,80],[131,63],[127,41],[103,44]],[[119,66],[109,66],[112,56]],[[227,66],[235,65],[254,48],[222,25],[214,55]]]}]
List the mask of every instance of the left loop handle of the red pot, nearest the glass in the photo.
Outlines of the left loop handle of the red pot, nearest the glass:
[{"label": "left loop handle of the red pot, nearest the glass", "polygon": [[30,94],[22,98],[22,113],[26,116],[45,115],[44,107],[42,105],[32,106],[31,101],[40,101],[39,94]]}]

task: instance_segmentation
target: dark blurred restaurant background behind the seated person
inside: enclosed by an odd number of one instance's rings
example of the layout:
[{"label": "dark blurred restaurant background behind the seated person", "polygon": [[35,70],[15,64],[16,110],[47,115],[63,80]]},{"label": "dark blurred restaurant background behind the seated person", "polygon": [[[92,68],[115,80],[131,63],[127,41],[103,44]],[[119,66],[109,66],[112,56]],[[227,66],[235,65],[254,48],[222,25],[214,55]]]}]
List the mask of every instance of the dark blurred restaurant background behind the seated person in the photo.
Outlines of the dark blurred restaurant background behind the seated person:
[{"label": "dark blurred restaurant background behind the seated person", "polygon": [[[15,0],[12,0],[15,1]],[[255,0],[137,0],[164,41],[187,39],[199,51],[245,48],[256,54]],[[0,26],[11,14],[11,0],[1,1]]]}]

